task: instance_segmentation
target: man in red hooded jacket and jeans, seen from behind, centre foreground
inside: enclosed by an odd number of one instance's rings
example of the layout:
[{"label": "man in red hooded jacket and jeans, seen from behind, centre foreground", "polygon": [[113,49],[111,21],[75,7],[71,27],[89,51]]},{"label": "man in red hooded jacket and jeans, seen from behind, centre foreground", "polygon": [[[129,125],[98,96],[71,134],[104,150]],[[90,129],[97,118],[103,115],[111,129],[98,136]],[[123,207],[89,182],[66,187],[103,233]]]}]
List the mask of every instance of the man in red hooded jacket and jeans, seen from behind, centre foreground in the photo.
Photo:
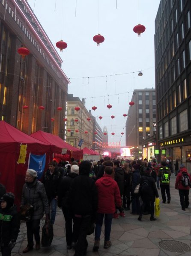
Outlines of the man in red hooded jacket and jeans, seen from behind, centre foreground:
[{"label": "man in red hooded jacket and jeans, seen from behind, centre foreground", "polygon": [[101,226],[104,218],[104,248],[111,246],[110,231],[113,213],[116,206],[120,207],[122,204],[119,187],[113,179],[114,169],[112,166],[107,166],[104,169],[104,176],[98,179],[95,183],[98,189],[98,210],[95,221],[95,243],[93,251],[96,252],[99,248],[99,241],[101,235]]}]

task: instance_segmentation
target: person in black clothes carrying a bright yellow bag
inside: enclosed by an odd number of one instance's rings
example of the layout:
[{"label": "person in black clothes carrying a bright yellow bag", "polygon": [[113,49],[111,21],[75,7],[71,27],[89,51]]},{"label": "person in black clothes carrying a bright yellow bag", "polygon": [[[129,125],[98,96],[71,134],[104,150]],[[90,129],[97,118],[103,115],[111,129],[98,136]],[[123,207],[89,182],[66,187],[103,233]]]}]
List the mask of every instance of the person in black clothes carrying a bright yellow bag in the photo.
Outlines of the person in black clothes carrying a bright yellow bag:
[{"label": "person in black clothes carrying a bright yellow bag", "polygon": [[155,180],[151,176],[151,168],[147,167],[144,170],[144,176],[140,178],[140,188],[139,188],[139,194],[141,196],[141,199],[143,200],[143,204],[140,208],[140,215],[138,217],[138,220],[141,221],[143,216],[143,211],[146,209],[146,207],[150,208],[151,217],[150,220],[156,220],[154,218],[154,202],[155,197],[158,197],[158,190],[155,185]]}]

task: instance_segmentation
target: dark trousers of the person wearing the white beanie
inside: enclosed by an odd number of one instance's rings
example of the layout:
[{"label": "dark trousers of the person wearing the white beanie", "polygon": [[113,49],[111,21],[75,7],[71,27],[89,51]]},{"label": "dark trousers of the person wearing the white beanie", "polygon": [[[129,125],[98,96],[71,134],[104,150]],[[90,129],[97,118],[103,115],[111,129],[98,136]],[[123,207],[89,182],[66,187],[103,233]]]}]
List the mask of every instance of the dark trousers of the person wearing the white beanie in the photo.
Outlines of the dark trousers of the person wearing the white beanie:
[{"label": "dark trousers of the person wearing the white beanie", "polygon": [[[67,245],[71,245],[72,242],[76,242],[73,238],[72,231],[72,217],[69,215],[69,210],[67,207],[62,207],[64,219],[65,219],[65,231],[66,231],[66,243]],[[78,238],[78,237],[77,237]]]}]

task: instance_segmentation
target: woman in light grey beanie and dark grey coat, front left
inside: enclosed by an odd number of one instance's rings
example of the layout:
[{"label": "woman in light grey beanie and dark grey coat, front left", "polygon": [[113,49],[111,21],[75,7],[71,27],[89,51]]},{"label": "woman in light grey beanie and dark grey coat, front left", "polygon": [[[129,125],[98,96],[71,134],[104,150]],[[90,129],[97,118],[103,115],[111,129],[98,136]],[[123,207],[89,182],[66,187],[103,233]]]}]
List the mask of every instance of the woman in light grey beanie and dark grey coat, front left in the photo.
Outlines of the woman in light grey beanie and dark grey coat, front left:
[{"label": "woman in light grey beanie and dark grey coat, front left", "polygon": [[23,253],[33,250],[33,236],[36,240],[36,250],[40,249],[40,220],[44,215],[44,211],[46,214],[46,220],[49,219],[48,198],[44,185],[37,179],[36,171],[28,169],[25,181],[26,183],[23,186],[21,197],[21,207],[25,204],[32,204],[34,211],[32,220],[26,222],[28,245],[23,250]]}]

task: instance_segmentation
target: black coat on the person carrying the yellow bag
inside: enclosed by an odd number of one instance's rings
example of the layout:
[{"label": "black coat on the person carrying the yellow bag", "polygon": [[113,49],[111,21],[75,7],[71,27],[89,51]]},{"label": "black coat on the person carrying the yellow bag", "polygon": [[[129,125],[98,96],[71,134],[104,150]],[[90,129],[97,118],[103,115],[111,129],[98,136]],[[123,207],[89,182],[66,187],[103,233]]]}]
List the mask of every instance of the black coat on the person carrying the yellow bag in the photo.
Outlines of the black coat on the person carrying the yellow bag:
[{"label": "black coat on the person carrying the yellow bag", "polygon": [[[149,186],[146,188],[146,192],[143,192],[142,185],[146,179],[149,183]],[[145,175],[140,178],[139,194],[143,202],[154,202],[155,197],[158,197],[158,190],[155,185],[155,180],[149,173],[145,173]]]}]

